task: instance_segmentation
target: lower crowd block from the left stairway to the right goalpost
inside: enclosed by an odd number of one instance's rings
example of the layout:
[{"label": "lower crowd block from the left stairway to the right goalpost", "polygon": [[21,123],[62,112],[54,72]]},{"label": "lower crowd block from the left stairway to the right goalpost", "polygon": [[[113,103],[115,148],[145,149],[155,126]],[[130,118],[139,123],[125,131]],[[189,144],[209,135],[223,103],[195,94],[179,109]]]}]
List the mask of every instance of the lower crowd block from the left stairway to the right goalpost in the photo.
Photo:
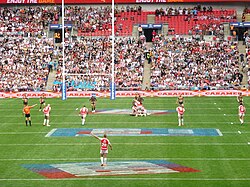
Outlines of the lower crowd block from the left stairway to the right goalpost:
[{"label": "lower crowd block from the left stairway to the right goalpost", "polygon": [[[111,72],[110,38],[82,38],[65,45],[65,73],[68,90],[109,88]],[[63,60],[59,58],[53,90],[61,89]],[[78,74],[78,75],[76,75]]]}]

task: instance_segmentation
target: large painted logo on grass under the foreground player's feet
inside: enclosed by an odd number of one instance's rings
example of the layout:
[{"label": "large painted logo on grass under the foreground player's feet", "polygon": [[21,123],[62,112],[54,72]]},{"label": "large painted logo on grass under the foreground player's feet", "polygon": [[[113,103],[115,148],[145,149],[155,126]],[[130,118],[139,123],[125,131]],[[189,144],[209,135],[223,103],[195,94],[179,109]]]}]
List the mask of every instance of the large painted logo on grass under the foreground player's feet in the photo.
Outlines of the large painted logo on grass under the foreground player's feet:
[{"label": "large painted logo on grass under the foreground player's feet", "polygon": [[199,172],[165,160],[117,161],[109,162],[105,167],[99,162],[25,164],[23,167],[50,179]]}]

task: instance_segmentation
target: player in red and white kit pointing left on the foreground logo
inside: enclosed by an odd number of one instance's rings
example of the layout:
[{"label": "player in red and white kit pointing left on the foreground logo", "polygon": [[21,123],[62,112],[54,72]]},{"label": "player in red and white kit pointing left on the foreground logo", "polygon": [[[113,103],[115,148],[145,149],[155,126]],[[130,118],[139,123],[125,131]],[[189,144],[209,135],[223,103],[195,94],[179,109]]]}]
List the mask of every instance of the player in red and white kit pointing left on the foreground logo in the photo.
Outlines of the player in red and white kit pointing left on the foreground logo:
[{"label": "player in red and white kit pointing left on the foreground logo", "polygon": [[101,150],[100,150],[100,155],[101,155],[101,166],[107,166],[107,155],[108,155],[108,147],[112,150],[112,145],[110,141],[107,138],[107,135],[104,134],[103,138],[100,138],[93,133],[91,133],[92,136],[94,136],[96,139],[100,140],[101,142]]}]

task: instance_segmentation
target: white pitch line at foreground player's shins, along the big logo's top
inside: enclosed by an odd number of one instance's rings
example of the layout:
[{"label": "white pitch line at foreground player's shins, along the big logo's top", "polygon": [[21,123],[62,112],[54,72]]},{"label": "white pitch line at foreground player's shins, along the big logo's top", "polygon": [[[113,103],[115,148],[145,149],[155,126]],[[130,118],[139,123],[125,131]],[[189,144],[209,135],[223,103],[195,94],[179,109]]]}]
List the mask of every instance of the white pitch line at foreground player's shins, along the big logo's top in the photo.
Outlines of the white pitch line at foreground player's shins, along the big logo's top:
[{"label": "white pitch line at foreground player's shins, along the big logo's top", "polygon": [[[86,161],[98,158],[0,158],[0,161]],[[120,160],[182,160],[182,161],[250,161],[250,158],[109,158],[110,161]]]}]

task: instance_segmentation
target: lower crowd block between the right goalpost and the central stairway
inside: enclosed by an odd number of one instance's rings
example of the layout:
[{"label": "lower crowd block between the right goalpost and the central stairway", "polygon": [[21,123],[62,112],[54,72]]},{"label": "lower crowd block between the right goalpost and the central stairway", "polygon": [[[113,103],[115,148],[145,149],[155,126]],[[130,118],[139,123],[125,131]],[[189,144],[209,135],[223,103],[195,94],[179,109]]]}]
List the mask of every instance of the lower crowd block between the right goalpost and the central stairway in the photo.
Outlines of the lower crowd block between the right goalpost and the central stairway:
[{"label": "lower crowd block between the right goalpost and the central stairway", "polygon": [[122,90],[140,90],[143,80],[146,43],[140,39],[120,38],[116,40],[115,79]]}]

